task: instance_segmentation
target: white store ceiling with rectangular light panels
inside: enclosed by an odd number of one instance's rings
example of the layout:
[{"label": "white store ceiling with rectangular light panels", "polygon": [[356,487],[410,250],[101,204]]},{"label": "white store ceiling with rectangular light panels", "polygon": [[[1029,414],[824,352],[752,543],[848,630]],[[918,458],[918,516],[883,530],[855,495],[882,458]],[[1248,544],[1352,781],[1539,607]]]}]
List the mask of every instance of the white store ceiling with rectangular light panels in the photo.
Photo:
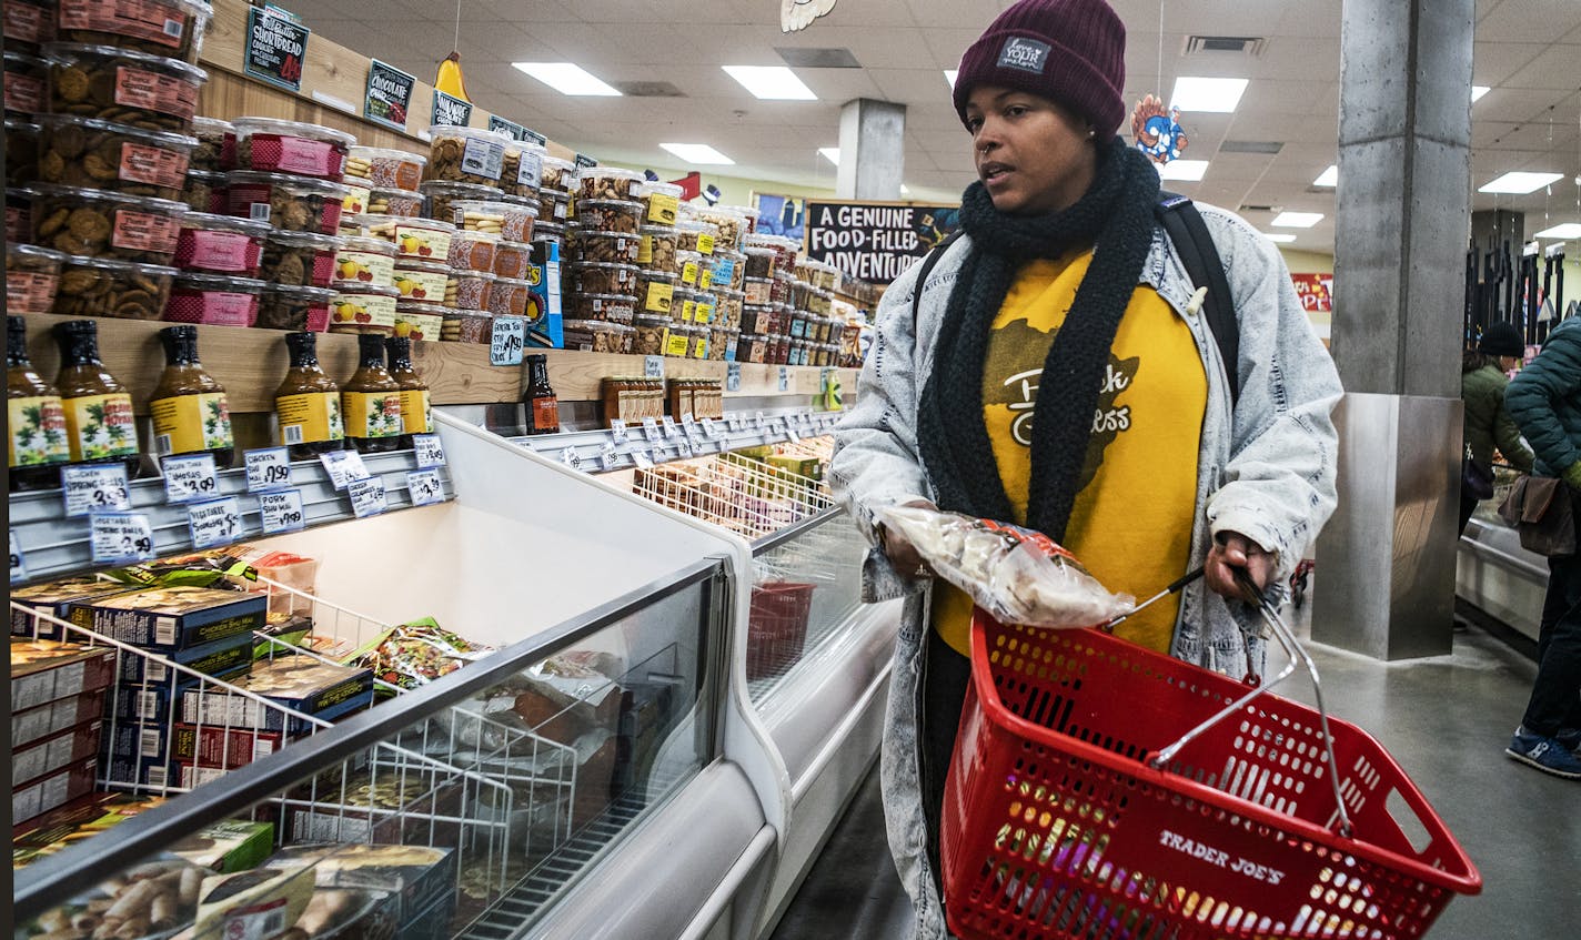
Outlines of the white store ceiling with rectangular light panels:
[{"label": "white store ceiling with rectangular light panels", "polygon": [[[1341,0],[1113,0],[1127,24],[1127,103],[1167,96],[1179,76],[1251,79],[1233,114],[1186,114],[1187,158],[1209,160],[1197,199],[1323,213],[1293,248],[1333,251],[1333,190],[1312,180],[1336,161]],[[798,33],[779,32],[779,0],[285,0],[319,35],[432,79],[455,44],[479,106],[610,163],[677,169],[661,142],[711,144],[735,160],[721,175],[833,188],[817,153],[840,144],[852,98],[907,106],[904,183],[914,199],[955,199],[972,180],[971,152],[942,70],[1002,0],[838,0]],[[1189,35],[1257,36],[1258,55],[1183,55]],[[776,47],[849,49],[860,68],[797,68],[817,101],[759,101],[721,65],[783,65]],[[1160,81],[1162,51],[1162,81]],[[669,82],[681,98],[568,98],[512,62],[574,62],[598,77]],[[1472,186],[1508,171],[1560,182],[1529,196],[1473,193],[1475,209],[1529,213],[1532,234],[1581,221],[1581,3],[1477,0]],[[1277,153],[1225,152],[1277,142]],[[1266,210],[1241,209],[1270,229]],[[1546,220],[1546,224],[1545,224]]]}]

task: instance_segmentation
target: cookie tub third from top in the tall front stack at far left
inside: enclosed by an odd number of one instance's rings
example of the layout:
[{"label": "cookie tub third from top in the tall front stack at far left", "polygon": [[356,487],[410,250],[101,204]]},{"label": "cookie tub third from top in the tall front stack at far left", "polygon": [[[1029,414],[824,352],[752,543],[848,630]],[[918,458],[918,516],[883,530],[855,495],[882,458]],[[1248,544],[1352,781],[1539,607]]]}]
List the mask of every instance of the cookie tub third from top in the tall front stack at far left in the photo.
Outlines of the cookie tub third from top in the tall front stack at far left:
[{"label": "cookie tub third from top in the tall front stack at far left", "polygon": [[70,114],[41,114],[36,122],[38,179],[44,183],[155,199],[175,199],[187,186],[198,137]]}]

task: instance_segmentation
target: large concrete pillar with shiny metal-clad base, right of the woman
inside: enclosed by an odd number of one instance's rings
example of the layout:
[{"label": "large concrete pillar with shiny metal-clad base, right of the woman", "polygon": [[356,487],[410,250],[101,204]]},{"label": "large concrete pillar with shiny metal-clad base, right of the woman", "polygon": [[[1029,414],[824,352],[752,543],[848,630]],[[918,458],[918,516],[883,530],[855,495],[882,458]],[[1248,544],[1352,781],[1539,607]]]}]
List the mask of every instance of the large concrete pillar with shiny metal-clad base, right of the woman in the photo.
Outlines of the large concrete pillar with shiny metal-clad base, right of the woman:
[{"label": "large concrete pillar with shiny metal-clad base, right of the woman", "polygon": [[1333,352],[1339,510],[1312,638],[1450,652],[1475,0],[1344,0]]}]

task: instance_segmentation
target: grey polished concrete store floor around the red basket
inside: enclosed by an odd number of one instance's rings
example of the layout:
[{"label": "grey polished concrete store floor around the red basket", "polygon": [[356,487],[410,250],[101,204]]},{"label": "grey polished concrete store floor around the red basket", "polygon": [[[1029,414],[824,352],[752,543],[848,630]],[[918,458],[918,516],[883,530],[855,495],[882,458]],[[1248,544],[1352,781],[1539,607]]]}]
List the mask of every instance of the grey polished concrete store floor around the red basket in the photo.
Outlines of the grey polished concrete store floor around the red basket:
[{"label": "grey polished concrete store floor around the red basket", "polygon": [[[1304,637],[1304,616],[1292,619]],[[1333,713],[1383,743],[1481,870],[1481,894],[1455,899],[1429,935],[1581,937],[1581,784],[1504,755],[1537,673],[1530,659],[1462,621],[1451,656],[1380,664],[1306,648]],[[1271,662],[1270,673],[1277,667]],[[1312,701],[1304,671],[1281,694]],[[874,769],[772,940],[911,935],[911,902],[889,859],[882,814]]]}]

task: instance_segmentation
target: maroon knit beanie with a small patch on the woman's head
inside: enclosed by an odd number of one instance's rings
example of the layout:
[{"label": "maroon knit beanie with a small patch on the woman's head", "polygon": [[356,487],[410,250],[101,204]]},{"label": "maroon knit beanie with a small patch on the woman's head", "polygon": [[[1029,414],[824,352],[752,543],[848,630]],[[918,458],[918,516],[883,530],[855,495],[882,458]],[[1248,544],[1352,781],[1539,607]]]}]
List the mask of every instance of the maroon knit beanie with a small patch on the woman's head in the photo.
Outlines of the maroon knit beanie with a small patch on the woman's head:
[{"label": "maroon knit beanie with a small patch on the woman's head", "polygon": [[977,85],[1053,98],[1108,139],[1126,120],[1126,24],[1105,0],[1021,0],[961,57],[955,112]]}]

